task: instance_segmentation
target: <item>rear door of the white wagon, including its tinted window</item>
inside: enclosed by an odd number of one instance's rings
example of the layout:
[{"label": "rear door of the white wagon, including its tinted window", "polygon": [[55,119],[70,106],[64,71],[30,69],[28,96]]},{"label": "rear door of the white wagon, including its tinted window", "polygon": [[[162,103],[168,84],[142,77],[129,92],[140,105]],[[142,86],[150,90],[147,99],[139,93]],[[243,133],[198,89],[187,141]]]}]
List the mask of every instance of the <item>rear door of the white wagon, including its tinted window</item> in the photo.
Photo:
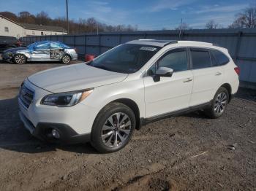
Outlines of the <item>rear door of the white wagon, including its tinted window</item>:
[{"label": "rear door of the white wagon, including its tinted window", "polygon": [[222,85],[222,66],[218,66],[211,51],[206,48],[190,48],[190,58],[194,82],[189,106],[206,104]]}]

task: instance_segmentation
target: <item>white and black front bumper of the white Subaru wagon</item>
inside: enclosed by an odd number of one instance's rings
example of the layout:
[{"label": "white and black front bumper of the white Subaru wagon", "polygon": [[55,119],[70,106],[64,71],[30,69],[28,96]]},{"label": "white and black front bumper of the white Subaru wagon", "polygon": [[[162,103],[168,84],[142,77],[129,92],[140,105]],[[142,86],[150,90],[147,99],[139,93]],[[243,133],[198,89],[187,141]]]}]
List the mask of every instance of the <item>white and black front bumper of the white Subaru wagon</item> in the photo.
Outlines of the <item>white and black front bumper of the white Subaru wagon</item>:
[{"label": "white and black front bumper of the white Subaru wagon", "polygon": [[[90,141],[91,127],[95,119],[94,108],[77,104],[71,107],[45,106],[41,99],[50,94],[47,90],[35,86],[28,79],[24,85],[34,92],[34,99],[29,106],[23,104],[18,96],[20,120],[33,136],[54,142],[87,142]],[[60,139],[51,136],[51,130],[56,129]]]}]

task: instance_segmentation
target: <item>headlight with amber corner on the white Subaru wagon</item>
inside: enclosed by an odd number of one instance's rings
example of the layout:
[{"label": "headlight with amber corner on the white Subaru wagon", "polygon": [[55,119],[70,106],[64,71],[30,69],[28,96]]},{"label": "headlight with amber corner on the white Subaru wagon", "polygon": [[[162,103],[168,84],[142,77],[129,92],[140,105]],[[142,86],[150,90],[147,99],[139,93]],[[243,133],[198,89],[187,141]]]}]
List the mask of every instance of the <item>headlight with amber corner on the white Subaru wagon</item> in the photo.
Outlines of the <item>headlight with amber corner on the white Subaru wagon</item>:
[{"label": "headlight with amber corner on the white Subaru wagon", "polygon": [[42,98],[41,104],[48,106],[75,106],[92,93],[93,89],[67,93],[55,93]]}]

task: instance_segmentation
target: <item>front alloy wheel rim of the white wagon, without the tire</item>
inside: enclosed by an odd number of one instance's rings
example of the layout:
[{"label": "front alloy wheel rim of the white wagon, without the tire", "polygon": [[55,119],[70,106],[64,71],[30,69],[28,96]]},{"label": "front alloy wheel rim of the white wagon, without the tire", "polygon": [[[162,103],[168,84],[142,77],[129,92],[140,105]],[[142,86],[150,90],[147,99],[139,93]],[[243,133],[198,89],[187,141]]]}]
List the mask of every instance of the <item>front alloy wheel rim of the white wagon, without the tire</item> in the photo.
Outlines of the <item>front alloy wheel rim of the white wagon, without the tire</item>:
[{"label": "front alloy wheel rim of the white wagon, without the tire", "polygon": [[127,141],[131,128],[132,123],[127,114],[112,114],[102,127],[102,141],[107,147],[120,147]]}]

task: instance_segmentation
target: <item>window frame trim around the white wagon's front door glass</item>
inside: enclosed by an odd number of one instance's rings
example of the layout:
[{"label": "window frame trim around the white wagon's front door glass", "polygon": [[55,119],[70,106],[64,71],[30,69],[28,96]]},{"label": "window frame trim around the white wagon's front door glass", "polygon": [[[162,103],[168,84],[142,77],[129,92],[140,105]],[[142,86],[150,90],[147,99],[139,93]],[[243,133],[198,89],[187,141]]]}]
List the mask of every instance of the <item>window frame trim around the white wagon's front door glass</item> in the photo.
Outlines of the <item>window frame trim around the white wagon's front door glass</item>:
[{"label": "window frame trim around the white wagon's front door glass", "polygon": [[[189,55],[189,47],[172,47],[168,50],[166,50],[165,52],[162,52],[161,55],[159,55],[159,57],[154,61],[154,63],[152,63],[150,66],[148,66],[148,68],[145,70],[145,73],[143,74],[143,77],[148,77],[148,69],[151,69],[151,66],[153,66],[154,64],[156,64],[163,56],[165,56],[168,52],[171,52],[173,50],[176,50],[176,49],[184,49],[186,52],[187,52],[187,70],[184,70],[184,71],[189,71],[192,69],[191,67],[191,58],[190,58],[190,55]],[[161,49],[160,49],[161,50]],[[159,51],[160,51],[159,50]],[[182,72],[182,71],[174,71],[173,73],[178,73],[178,72]]]}]

